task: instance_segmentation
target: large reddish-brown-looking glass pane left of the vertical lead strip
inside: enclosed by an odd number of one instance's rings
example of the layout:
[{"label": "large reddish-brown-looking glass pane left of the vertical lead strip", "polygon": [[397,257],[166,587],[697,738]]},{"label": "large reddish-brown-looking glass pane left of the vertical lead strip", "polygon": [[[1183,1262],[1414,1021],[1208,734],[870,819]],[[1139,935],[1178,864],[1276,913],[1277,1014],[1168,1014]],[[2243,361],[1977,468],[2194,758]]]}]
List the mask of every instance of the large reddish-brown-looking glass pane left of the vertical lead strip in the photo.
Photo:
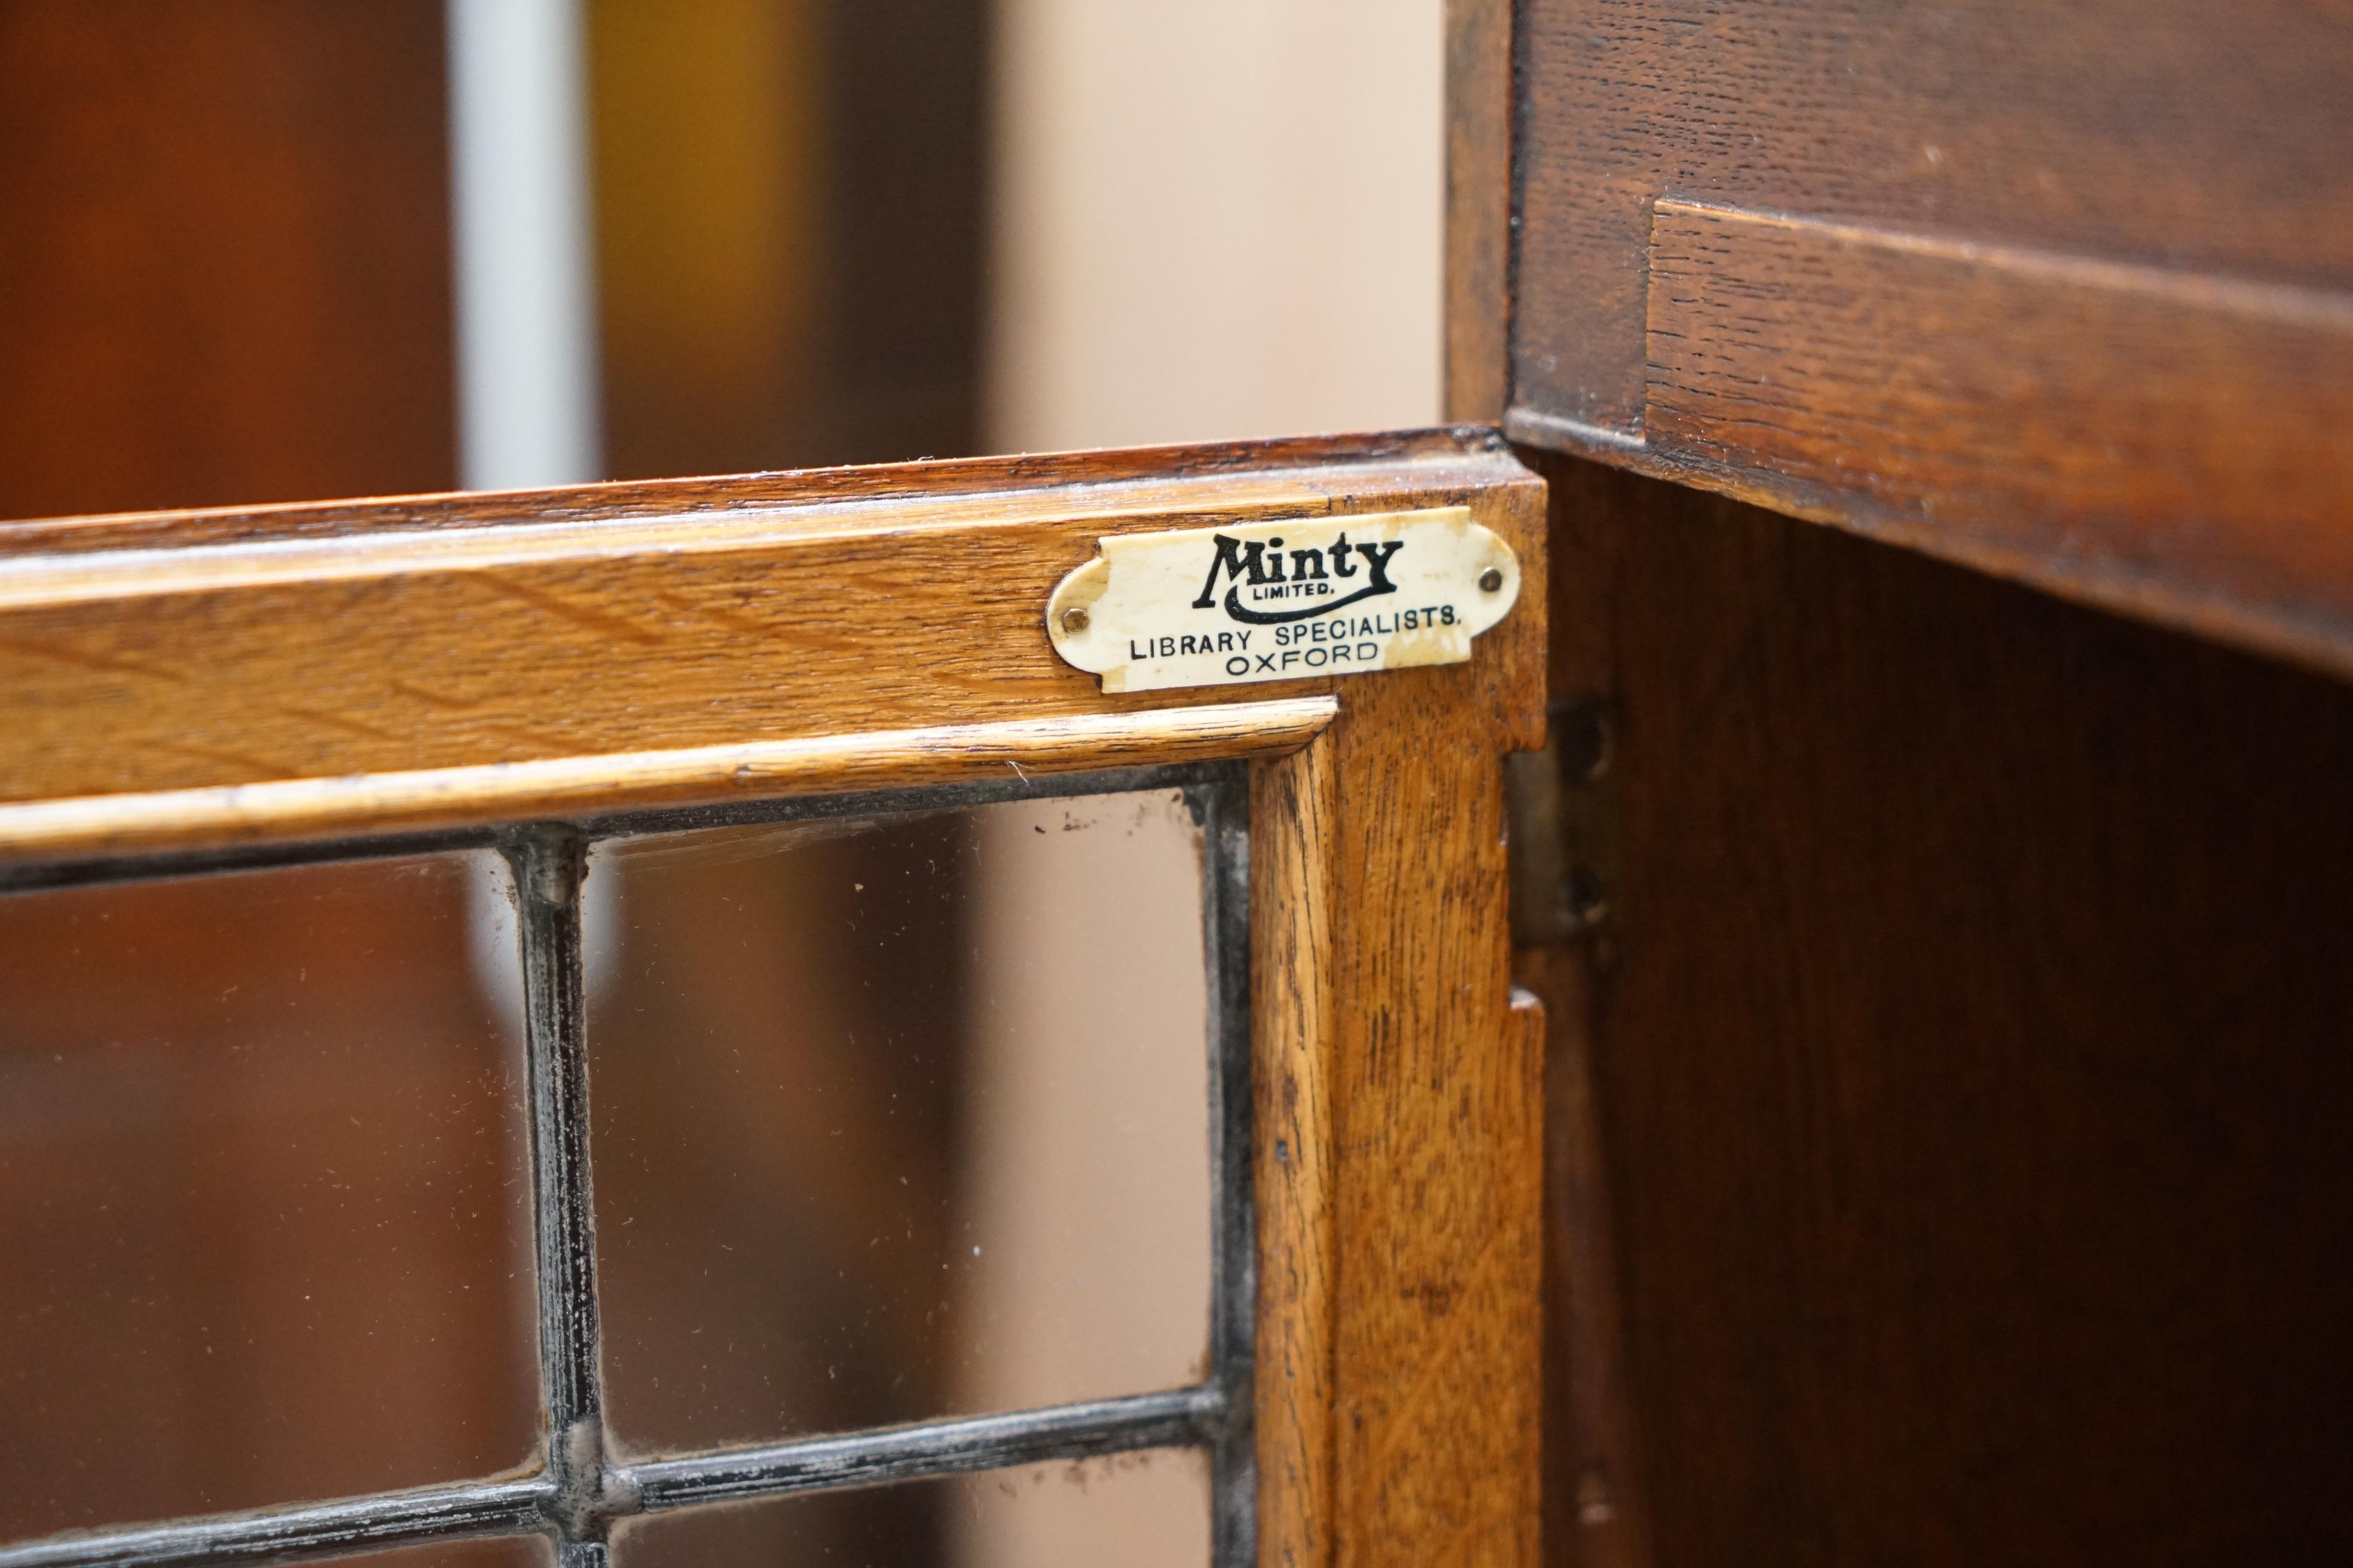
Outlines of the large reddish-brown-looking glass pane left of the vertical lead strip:
[{"label": "large reddish-brown-looking glass pane left of the vertical lead strip", "polygon": [[520,1039],[475,959],[513,966],[501,882],[0,896],[0,1540],[532,1453]]}]

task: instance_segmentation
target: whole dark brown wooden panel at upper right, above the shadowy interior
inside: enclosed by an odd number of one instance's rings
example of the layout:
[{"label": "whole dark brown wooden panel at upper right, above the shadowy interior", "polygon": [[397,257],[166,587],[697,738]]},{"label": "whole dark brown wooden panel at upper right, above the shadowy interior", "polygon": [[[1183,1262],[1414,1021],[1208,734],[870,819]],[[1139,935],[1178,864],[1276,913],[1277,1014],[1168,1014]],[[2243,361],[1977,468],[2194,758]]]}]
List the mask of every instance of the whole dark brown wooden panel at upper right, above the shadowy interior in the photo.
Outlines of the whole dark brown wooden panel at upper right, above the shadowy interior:
[{"label": "whole dark brown wooden panel at upper right, above the shadowy interior", "polygon": [[2344,12],[1539,0],[1520,49],[1518,440],[2353,670]]}]

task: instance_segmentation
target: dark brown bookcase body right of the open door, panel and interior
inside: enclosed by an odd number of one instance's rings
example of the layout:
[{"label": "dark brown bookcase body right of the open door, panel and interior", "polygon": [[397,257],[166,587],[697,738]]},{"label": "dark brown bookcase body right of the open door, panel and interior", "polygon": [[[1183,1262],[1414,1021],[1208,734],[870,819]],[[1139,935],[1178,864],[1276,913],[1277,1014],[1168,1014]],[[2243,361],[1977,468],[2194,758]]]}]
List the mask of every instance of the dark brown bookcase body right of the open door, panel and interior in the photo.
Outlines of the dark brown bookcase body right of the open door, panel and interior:
[{"label": "dark brown bookcase body right of the open door, panel and interior", "polygon": [[2344,1561],[2353,28],[1511,16],[1449,407],[1609,738],[1520,954],[1546,1556]]}]

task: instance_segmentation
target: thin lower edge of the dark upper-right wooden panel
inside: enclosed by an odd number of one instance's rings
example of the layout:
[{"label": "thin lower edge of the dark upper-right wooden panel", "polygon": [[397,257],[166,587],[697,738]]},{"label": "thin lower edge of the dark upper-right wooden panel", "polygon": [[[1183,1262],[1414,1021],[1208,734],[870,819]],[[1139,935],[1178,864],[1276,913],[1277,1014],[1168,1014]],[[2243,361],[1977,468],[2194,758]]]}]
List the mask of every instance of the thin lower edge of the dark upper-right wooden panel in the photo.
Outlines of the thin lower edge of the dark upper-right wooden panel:
[{"label": "thin lower edge of the dark upper-right wooden panel", "polygon": [[1969,567],[2026,588],[2106,609],[2151,625],[2195,632],[2212,642],[2353,679],[2353,621],[2313,623],[2200,590],[2195,574],[2125,576],[2106,562],[2057,550],[2021,550],[1979,534],[1904,515],[1889,505],[1845,489],[1809,484],[1758,468],[1732,468],[1661,451],[1642,437],[1605,430],[1560,414],[1511,409],[1504,435],[1522,447],[1541,447],[1569,456],[1624,468],[1652,480],[1689,484],[1746,505],[1760,505],[1802,522],[1819,522],[1847,534],[1875,538]]}]

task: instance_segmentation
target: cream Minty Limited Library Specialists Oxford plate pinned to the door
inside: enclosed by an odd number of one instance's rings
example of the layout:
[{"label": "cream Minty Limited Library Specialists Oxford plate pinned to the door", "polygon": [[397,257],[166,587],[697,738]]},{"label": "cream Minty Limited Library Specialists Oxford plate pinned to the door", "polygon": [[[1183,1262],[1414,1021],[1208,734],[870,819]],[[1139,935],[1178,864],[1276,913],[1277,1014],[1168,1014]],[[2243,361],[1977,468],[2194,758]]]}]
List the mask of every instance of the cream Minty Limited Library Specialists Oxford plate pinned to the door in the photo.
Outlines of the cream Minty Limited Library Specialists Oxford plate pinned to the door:
[{"label": "cream Minty Limited Library Specialists Oxford plate pinned to the door", "polygon": [[1238,686],[1471,658],[1520,562],[1471,508],[1111,534],[1047,602],[1104,691]]}]

